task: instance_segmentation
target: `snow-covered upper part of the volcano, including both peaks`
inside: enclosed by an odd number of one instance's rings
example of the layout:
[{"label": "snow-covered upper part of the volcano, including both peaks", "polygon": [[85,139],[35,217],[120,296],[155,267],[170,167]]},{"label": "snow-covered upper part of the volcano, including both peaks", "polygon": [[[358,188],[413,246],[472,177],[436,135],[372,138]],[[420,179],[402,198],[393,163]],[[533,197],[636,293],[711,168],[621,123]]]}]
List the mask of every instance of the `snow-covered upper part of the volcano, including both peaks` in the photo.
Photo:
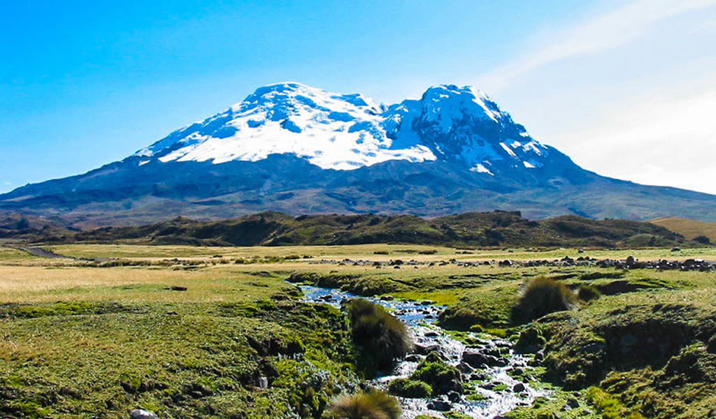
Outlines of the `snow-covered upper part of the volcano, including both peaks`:
[{"label": "snow-covered upper part of the volcano, including both peaks", "polygon": [[493,174],[495,163],[541,167],[547,150],[473,87],[431,87],[419,100],[381,107],[362,94],[281,83],[261,87],[135,156],[220,164],[294,154],[321,169],[338,170],[442,159]]}]

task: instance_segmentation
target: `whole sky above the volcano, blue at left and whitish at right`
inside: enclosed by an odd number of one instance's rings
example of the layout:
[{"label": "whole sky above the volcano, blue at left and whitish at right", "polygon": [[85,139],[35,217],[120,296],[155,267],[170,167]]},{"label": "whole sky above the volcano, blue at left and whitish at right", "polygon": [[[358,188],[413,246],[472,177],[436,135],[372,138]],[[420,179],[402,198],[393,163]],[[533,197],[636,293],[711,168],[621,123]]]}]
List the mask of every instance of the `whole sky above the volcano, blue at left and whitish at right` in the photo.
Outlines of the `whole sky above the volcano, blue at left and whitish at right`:
[{"label": "whole sky above the volcano, blue at left and whitish at right", "polygon": [[475,84],[586,169],[716,193],[716,0],[209,3],[4,1],[0,191],[290,80],[386,103]]}]

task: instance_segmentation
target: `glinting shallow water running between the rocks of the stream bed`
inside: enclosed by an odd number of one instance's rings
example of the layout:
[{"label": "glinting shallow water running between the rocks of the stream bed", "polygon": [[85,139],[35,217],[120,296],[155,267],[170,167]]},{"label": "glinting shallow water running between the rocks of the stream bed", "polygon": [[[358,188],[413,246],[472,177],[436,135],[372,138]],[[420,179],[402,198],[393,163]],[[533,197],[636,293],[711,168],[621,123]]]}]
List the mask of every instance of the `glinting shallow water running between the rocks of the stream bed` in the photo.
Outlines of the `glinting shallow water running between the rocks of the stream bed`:
[{"label": "glinting shallow water running between the rocks of the stream bed", "polygon": [[[343,300],[349,298],[357,298],[359,296],[352,295],[349,292],[342,292],[339,290],[332,290],[329,288],[312,287],[309,285],[302,285],[301,290],[304,292],[305,300],[309,302],[320,302],[324,304],[333,305],[334,307],[340,307]],[[450,365],[458,366],[462,362],[463,352],[467,348],[463,342],[453,339],[448,333],[445,333],[435,322],[437,315],[445,308],[438,305],[422,305],[420,302],[407,302],[407,301],[384,301],[378,298],[367,297],[366,300],[382,305],[383,307],[391,310],[392,314],[400,318],[408,326],[413,340],[416,345],[422,347],[437,345],[437,352],[439,352]],[[507,365],[503,367],[490,367],[485,370],[475,370],[475,373],[483,373],[486,375],[485,380],[470,381],[470,373],[463,373],[463,385],[465,388],[473,387],[475,383],[476,389],[480,395],[483,395],[485,400],[470,401],[465,400],[464,396],[456,402],[450,403],[450,410],[463,413],[470,416],[470,418],[495,418],[499,415],[507,413],[518,406],[531,405],[534,399],[538,396],[547,395],[547,392],[543,390],[536,390],[531,388],[528,383],[522,383],[524,390],[515,393],[512,391],[513,387],[518,383],[510,375],[508,371],[514,368],[521,368],[522,370],[528,371],[530,368],[527,366],[527,359],[522,355],[518,355],[513,352],[511,342],[508,342],[497,337],[478,337],[475,334],[471,334],[475,340],[480,340],[480,352],[485,352],[490,349],[503,348],[508,353],[505,355]],[[471,349],[475,349],[474,347]],[[410,358],[410,357],[409,357]],[[387,388],[390,381],[396,378],[407,378],[417,368],[418,362],[410,362],[404,360],[398,363],[394,370],[389,375],[373,380],[373,384],[379,388]],[[507,390],[494,391],[488,390],[487,388],[481,387],[485,383],[492,383],[493,385],[506,385]],[[490,387],[490,385],[485,385]],[[504,387],[504,386],[500,386]],[[438,398],[427,398],[427,399],[412,399],[412,398],[398,398],[403,408],[403,418],[413,419],[417,415],[432,415],[437,418],[444,418],[444,415],[440,411],[431,410],[428,405],[432,400],[444,400],[448,401],[445,396]]]}]

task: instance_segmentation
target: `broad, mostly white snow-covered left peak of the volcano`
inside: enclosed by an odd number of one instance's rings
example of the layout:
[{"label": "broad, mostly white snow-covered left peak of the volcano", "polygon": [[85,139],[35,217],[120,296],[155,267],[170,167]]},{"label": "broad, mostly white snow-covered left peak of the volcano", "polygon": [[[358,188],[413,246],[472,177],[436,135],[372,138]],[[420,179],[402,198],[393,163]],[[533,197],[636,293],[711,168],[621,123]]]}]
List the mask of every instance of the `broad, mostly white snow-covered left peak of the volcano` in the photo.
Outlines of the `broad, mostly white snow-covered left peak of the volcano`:
[{"label": "broad, mostly white snow-covered left peak of the volcano", "polygon": [[261,87],[221,114],[137,152],[161,162],[256,162],[295,154],[322,169],[349,170],[386,160],[435,160],[422,144],[395,148],[383,109],[361,94],[335,94],[299,83]]}]

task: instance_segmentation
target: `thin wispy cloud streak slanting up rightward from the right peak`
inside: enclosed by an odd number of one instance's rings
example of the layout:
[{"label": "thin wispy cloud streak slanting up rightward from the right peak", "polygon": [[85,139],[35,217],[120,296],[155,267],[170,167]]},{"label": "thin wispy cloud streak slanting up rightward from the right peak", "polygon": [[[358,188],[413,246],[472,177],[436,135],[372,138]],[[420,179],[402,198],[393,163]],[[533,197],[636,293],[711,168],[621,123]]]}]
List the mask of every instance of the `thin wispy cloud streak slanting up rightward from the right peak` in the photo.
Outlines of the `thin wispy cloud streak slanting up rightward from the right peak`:
[{"label": "thin wispy cloud streak slanting up rightward from the right peak", "polygon": [[594,54],[636,39],[650,26],[672,16],[716,5],[716,0],[639,0],[554,34],[553,41],[516,57],[479,78],[495,92],[511,79],[540,66],[573,56]]}]

